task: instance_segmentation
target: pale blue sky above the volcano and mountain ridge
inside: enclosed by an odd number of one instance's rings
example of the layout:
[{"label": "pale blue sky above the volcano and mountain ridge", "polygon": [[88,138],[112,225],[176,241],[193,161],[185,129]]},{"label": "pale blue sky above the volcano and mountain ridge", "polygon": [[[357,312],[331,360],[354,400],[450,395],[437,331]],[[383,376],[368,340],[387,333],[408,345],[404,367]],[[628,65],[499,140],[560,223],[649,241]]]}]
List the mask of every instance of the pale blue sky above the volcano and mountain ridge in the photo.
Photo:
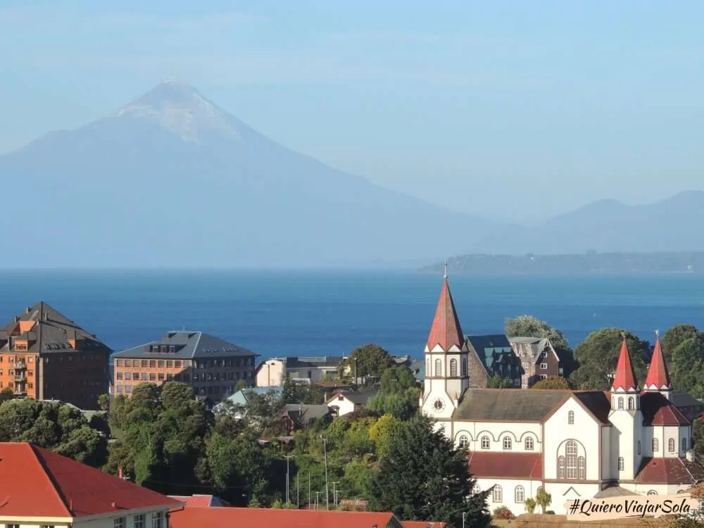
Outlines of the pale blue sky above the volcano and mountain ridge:
[{"label": "pale blue sky above the volcano and mountain ridge", "polygon": [[164,77],[293,149],[532,220],[704,189],[704,4],[0,2],[0,153]]}]

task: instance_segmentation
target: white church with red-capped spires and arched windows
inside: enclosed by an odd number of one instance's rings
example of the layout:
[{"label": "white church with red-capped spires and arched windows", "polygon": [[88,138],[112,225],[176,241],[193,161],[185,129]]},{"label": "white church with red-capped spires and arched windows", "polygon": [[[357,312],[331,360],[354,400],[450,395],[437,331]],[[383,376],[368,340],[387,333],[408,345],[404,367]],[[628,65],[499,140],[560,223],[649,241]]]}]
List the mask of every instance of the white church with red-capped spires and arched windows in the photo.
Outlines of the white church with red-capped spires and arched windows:
[{"label": "white church with red-capped spires and arched windows", "polygon": [[675,494],[704,479],[693,461],[691,422],[671,403],[658,338],[639,386],[624,339],[610,391],[472,389],[469,349],[447,277],[425,346],[422,412],[469,449],[489,508],[525,513],[540,486],[548,510],[595,496]]}]

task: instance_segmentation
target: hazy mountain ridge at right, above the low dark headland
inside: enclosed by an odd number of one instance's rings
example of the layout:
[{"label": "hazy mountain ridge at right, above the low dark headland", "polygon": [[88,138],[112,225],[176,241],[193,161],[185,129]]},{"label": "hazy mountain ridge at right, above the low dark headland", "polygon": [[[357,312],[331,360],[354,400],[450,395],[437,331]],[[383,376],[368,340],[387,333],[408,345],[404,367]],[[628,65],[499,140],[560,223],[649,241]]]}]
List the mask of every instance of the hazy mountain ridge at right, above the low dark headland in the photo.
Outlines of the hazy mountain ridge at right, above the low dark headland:
[{"label": "hazy mountain ridge at right, above the low dark headland", "polygon": [[465,253],[704,251],[701,225],[703,191],[684,191],[642,206],[602,200],[552,218],[539,227],[505,227]]}]

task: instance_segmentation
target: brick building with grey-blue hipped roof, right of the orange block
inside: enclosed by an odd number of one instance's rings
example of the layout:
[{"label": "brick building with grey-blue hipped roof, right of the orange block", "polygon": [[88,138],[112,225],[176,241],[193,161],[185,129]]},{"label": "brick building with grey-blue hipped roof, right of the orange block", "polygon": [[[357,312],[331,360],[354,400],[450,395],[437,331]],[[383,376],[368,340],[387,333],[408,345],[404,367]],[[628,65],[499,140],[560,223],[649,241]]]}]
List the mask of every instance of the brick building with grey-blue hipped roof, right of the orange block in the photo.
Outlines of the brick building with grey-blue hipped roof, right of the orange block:
[{"label": "brick building with grey-blue hipped roof, right of the orange block", "polygon": [[256,354],[203,332],[166,332],[161,339],[113,354],[115,395],[130,396],[140,383],[177,381],[197,396],[220,401],[239,381],[254,384]]}]

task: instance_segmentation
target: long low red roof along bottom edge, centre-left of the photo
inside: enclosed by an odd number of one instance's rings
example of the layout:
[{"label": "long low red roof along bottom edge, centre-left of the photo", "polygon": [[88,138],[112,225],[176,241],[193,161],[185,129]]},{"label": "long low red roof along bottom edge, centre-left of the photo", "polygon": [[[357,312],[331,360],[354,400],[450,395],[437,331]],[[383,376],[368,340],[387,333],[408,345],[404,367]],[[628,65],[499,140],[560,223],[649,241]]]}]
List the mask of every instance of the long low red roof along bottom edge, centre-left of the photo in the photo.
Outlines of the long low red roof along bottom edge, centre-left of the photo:
[{"label": "long low red roof along bottom edge, centre-left of the photo", "polygon": [[171,528],[403,528],[393,513],[283,510],[265,508],[184,508],[170,515]]}]

